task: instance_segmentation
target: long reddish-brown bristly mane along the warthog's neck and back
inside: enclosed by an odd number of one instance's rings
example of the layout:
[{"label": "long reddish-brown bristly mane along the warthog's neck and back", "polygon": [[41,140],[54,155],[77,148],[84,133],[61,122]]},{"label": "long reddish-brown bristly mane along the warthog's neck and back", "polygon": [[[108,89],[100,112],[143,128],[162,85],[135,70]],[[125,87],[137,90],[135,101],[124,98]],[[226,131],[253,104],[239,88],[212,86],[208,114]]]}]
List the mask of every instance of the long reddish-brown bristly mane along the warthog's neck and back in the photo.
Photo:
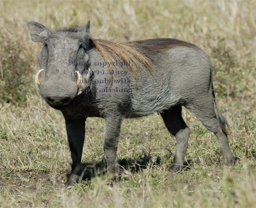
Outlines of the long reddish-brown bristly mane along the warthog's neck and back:
[{"label": "long reddish-brown bristly mane along the warthog's neck and back", "polygon": [[[95,47],[106,62],[114,62],[115,60],[126,62],[130,61],[128,66],[137,79],[137,69],[143,64],[149,72],[154,72],[152,63],[156,61],[159,53],[164,53],[172,47],[189,47],[199,49],[197,46],[179,41],[172,38],[159,38],[144,41],[133,41],[126,43],[115,43],[105,40],[92,39],[92,47]],[[118,66],[114,66],[119,70]]]}]

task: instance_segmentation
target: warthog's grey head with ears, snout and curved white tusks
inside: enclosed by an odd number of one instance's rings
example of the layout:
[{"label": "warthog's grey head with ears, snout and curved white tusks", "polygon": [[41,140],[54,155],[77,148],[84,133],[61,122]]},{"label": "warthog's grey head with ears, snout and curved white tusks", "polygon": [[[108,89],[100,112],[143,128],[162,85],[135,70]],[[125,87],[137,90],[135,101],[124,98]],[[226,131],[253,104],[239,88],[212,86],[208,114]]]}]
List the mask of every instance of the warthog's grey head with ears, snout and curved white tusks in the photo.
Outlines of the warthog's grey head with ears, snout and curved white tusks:
[{"label": "warthog's grey head with ears, snout and curved white tusks", "polygon": [[[90,73],[81,75],[78,71],[89,70],[86,64],[89,60],[86,54],[90,42],[89,27],[90,22],[80,29],[52,32],[38,22],[28,22],[32,41],[44,44],[38,55],[40,70],[36,82],[41,95],[53,108],[67,105],[85,88],[79,80],[88,80]],[[76,66],[75,62],[85,64]]]}]

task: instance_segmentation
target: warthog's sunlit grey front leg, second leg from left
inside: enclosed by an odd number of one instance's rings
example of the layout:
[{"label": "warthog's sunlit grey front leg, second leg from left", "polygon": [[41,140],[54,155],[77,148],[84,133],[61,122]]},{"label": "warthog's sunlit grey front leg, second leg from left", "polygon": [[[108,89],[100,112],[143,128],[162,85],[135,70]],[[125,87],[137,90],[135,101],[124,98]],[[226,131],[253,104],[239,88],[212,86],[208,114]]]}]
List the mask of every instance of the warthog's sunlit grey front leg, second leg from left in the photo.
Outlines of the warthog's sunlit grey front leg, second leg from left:
[{"label": "warthog's sunlit grey front leg, second leg from left", "polygon": [[113,181],[119,181],[119,167],[117,164],[117,148],[122,122],[121,116],[109,116],[105,118],[104,151],[107,157],[108,177]]}]

